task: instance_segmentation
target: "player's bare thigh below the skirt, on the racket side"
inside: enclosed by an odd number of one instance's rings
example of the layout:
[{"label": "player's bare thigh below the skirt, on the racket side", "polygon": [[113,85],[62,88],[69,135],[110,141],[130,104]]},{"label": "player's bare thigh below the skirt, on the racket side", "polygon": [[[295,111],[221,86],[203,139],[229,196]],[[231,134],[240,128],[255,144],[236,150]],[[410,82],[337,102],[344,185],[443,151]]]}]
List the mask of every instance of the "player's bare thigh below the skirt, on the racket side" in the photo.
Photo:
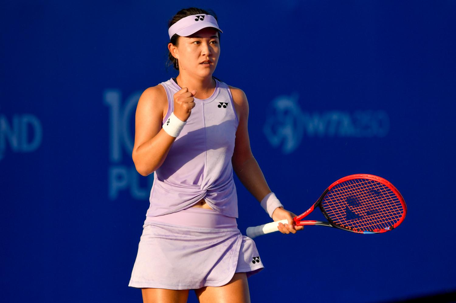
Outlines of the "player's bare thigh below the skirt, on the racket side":
[{"label": "player's bare thigh below the skirt, on the racket side", "polygon": [[245,273],[235,273],[230,282],[219,287],[195,289],[200,303],[250,303],[249,284]]}]

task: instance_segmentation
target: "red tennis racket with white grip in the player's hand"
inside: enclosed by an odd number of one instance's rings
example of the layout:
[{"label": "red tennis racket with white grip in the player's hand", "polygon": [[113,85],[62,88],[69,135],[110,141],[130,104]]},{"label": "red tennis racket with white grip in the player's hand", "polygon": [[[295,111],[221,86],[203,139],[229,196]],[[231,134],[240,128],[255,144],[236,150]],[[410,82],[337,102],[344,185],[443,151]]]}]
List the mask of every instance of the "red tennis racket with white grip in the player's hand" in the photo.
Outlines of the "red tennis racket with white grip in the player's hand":
[{"label": "red tennis racket with white grip in the player's hand", "polygon": [[[316,207],[328,222],[301,221]],[[356,233],[382,233],[399,226],[407,213],[404,198],[389,181],[382,177],[356,174],[332,183],[308,210],[293,218],[296,226],[321,225],[337,227]],[[278,231],[279,222],[286,219],[247,228],[248,237],[254,238]]]}]

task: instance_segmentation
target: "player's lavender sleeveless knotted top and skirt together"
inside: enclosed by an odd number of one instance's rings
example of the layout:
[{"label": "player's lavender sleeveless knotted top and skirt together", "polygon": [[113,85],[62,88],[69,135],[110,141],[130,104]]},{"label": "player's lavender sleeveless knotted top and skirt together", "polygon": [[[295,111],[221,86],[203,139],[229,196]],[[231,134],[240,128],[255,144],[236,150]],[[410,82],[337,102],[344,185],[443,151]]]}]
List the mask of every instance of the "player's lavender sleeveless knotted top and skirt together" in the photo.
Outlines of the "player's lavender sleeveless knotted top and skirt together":
[{"label": "player's lavender sleeveless knotted top and skirt together", "polygon": [[[231,157],[238,127],[233,97],[224,82],[195,107],[165,161],[154,173],[138,254],[129,286],[197,289],[222,286],[234,273],[264,266],[255,242],[238,229],[238,200]],[[181,90],[160,83],[168,96],[166,120]],[[204,198],[212,209],[192,207]]]}]

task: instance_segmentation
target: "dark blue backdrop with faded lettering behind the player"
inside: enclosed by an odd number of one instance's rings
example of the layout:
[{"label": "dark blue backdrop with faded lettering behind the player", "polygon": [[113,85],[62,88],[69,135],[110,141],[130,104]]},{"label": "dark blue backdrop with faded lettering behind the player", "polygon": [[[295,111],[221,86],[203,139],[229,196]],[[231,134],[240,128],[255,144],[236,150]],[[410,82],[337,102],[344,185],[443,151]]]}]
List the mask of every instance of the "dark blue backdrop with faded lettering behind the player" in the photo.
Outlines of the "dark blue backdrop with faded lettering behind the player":
[{"label": "dark blue backdrop with faded lettering behind the player", "polygon": [[[256,238],[265,269],[249,278],[252,301],[456,289],[455,1],[0,5],[5,302],[141,302],[127,285],[153,175],[131,159],[135,108],[145,88],[177,75],[165,68],[167,22],[190,6],[218,15],[214,76],[245,91],[252,151],[286,209],[305,211],[353,173],[387,178],[408,205],[385,234]],[[239,229],[268,222],[236,185]]]}]

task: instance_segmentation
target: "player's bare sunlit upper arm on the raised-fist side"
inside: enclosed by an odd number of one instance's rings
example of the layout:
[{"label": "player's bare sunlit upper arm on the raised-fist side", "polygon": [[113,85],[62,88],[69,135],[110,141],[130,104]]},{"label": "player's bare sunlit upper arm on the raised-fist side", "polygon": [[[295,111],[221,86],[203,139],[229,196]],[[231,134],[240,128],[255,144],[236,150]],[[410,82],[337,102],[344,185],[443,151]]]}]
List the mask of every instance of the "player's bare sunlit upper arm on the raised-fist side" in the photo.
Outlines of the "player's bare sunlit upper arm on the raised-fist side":
[{"label": "player's bare sunlit upper arm on the raised-fist side", "polygon": [[149,141],[161,130],[161,121],[167,108],[166,91],[160,84],[147,88],[141,94],[136,106],[133,161],[135,161],[137,148],[144,142]]}]

